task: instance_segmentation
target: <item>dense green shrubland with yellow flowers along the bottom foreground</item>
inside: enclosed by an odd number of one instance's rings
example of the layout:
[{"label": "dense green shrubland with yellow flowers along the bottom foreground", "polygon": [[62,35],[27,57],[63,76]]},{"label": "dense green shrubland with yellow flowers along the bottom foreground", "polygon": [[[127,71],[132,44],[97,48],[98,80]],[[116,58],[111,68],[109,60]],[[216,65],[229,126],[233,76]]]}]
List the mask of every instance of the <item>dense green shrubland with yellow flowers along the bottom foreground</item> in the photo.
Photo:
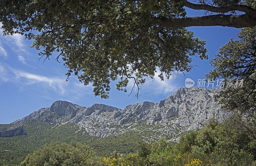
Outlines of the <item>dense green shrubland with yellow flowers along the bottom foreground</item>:
[{"label": "dense green shrubland with yellow flowers along the bottom foreground", "polygon": [[211,119],[202,130],[191,131],[173,145],[164,139],[138,142],[137,153],[98,157],[80,142],[45,145],[28,155],[20,166],[236,166],[255,165],[256,141],[228,124]]}]

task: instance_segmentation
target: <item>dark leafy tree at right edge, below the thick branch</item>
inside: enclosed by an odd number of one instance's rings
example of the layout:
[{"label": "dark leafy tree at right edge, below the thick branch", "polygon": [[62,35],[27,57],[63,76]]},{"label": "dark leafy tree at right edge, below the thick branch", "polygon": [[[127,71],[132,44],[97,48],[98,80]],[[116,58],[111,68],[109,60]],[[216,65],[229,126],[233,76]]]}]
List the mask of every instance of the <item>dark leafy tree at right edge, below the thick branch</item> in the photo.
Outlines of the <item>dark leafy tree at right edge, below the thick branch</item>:
[{"label": "dark leafy tree at right edge, below the thick branch", "polygon": [[231,39],[220,48],[211,60],[215,69],[207,78],[224,79],[224,87],[215,97],[224,110],[235,114],[231,124],[256,138],[256,27],[242,29],[238,37],[240,40]]}]

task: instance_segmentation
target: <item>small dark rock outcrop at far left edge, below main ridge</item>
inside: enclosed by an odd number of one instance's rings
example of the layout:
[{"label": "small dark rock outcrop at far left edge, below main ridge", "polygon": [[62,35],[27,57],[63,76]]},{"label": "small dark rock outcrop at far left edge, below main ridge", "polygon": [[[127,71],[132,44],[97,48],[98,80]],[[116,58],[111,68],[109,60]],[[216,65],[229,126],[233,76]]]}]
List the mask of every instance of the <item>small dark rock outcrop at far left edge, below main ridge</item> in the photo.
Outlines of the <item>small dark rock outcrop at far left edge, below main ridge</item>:
[{"label": "small dark rock outcrop at far left edge, below main ridge", "polygon": [[10,128],[0,129],[0,137],[12,137],[14,135],[26,135],[25,126],[22,124],[16,124]]}]

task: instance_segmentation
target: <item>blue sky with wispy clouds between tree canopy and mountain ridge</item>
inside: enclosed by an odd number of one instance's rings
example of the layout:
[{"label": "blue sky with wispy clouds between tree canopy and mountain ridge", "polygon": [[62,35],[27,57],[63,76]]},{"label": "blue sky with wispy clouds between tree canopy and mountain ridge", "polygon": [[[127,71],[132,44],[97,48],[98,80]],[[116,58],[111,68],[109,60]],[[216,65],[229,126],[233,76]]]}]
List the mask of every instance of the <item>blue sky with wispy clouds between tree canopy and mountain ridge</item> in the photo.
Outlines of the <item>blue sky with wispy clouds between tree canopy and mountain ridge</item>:
[{"label": "blue sky with wispy clouds between tree canopy and mountain ridge", "polygon": [[[203,11],[187,10],[188,16],[203,15]],[[209,60],[219,52],[221,45],[230,38],[237,39],[240,29],[229,27],[190,27],[195,37],[207,41]],[[212,69],[209,60],[194,58],[193,63],[198,67],[186,76],[179,75],[166,81],[156,77],[148,80],[141,87],[139,99],[134,95],[117,91],[115,83],[111,83],[109,99],[94,97],[92,86],[83,86],[76,76],[66,81],[67,69],[63,63],[50,60],[38,61],[38,51],[30,48],[31,40],[24,40],[22,35],[3,37],[0,32],[0,124],[11,123],[21,119],[42,107],[49,107],[56,100],[66,100],[72,103],[90,106],[102,103],[123,109],[126,105],[150,101],[158,103],[173,92],[185,86],[185,79],[204,79]]]}]

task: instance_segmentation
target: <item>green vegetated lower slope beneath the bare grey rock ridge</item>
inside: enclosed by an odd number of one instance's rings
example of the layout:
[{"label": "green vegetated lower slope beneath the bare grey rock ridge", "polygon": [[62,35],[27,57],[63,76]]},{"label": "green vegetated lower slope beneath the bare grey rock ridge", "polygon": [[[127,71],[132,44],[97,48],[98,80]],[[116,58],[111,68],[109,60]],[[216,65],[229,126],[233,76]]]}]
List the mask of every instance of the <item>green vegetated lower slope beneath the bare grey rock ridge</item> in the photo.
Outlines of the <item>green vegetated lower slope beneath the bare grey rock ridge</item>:
[{"label": "green vegetated lower slope beneath the bare grey rock ridge", "polygon": [[[136,152],[136,142],[146,139],[157,141],[161,131],[158,131],[157,125],[146,125],[144,123],[136,125],[136,130],[125,132],[119,136],[111,135],[100,139],[96,136],[90,136],[84,130],[79,131],[79,127],[67,123],[55,127],[56,124],[31,121],[26,124],[27,135],[0,137],[0,163],[4,165],[18,165],[28,154],[41,148],[47,143],[60,143],[79,141],[88,144],[99,156],[109,156],[111,152],[117,151],[120,154],[129,154]],[[0,128],[10,127],[10,125],[0,125]],[[140,131],[138,131],[140,130]],[[78,131],[78,132],[76,132]],[[167,138],[167,135],[164,135]],[[4,150],[11,150],[4,152]]]}]

